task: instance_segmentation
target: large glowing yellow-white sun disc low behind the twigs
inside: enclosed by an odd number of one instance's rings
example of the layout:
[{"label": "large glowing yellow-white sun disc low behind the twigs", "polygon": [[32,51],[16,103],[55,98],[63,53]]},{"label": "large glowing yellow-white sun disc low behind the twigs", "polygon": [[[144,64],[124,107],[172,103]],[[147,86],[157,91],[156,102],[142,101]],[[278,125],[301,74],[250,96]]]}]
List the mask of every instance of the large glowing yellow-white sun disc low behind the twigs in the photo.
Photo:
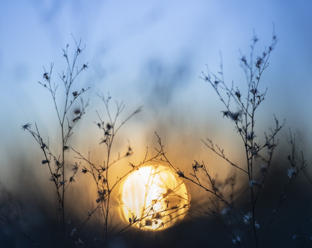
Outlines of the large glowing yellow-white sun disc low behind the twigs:
[{"label": "large glowing yellow-white sun disc low behind the twigs", "polygon": [[142,166],[122,183],[119,213],[128,224],[161,230],[181,221],[190,197],[186,185],[168,166]]}]

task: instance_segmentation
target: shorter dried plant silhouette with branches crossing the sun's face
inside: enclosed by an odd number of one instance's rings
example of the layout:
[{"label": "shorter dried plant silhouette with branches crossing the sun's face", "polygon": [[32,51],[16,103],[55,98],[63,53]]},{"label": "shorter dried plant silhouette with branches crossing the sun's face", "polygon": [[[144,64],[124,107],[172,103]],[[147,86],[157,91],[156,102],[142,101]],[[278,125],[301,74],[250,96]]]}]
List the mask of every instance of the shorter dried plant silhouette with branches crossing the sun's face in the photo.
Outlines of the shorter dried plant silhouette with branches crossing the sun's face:
[{"label": "shorter dried plant silhouette with branches crossing the sun's face", "polygon": [[[113,224],[113,217],[115,216],[115,210],[111,209],[110,202],[111,202],[111,197],[112,193],[115,191],[115,196],[116,196],[116,190],[117,186],[120,182],[123,181],[123,179],[129,175],[129,173],[138,170],[142,165],[150,162],[155,162],[157,161],[157,158],[161,156],[160,153],[157,153],[155,156],[152,156],[151,158],[147,158],[148,155],[148,150],[146,151],[145,157],[142,162],[140,162],[138,165],[134,165],[133,163],[129,163],[129,166],[131,168],[123,173],[122,176],[117,177],[116,179],[113,179],[112,176],[110,176],[110,171],[111,167],[115,165],[116,162],[128,158],[133,154],[133,150],[130,146],[130,144],[127,146],[124,155],[120,156],[118,155],[117,158],[112,160],[111,155],[112,155],[112,146],[113,146],[113,141],[115,139],[117,131],[127,122],[131,117],[133,117],[135,114],[139,113],[142,109],[142,107],[139,107],[136,109],[129,117],[127,117],[123,122],[118,124],[117,120],[121,112],[123,111],[125,105],[123,102],[120,104],[116,102],[116,113],[115,116],[111,115],[111,110],[109,107],[110,99],[111,96],[108,94],[108,96],[105,98],[103,95],[101,96],[106,112],[107,112],[107,118],[108,121],[103,121],[102,118],[99,116],[100,122],[95,122],[96,126],[100,128],[102,131],[102,137],[100,139],[100,145],[105,145],[106,147],[106,159],[104,160],[103,165],[96,165],[95,163],[91,162],[90,157],[85,157],[83,156],[80,152],[74,150],[74,148],[71,147],[73,151],[75,151],[79,156],[76,157],[78,159],[81,159],[84,162],[87,162],[88,166],[84,166],[82,169],[82,173],[84,174],[91,174],[91,177],[93,178],[93,182],[96,185],[97,193],[98,193],[98,198],[96,199],[96,206],[91,208],[91,210],[86,210],[86,215],[87,218],[85,222],[80,226],[80,228],[76,227],[73,229],[73,232],[77,231],[77,233],[80,231],[80,229],[85,225],[86,221],[89,220],[89,218],[96,212],[98,211],[98,218],[97,221],[100,225],[101,228],[101,237],[96,237],[95,241],[101,242],[103,247],[107,247],[110,242],[118,236],[121,232],[125,231],[128,229],[130,226],[139,226],[139,228],[142,228],[144,226],[151,226],[153,223],[158,223],[159,220],[161,220],[164,216],[172,215],[174,213],[177,213],[177,211],[181,208],[186,208],[187,206],[180,206],[179,201],[175,205],[168,205],[167,207],[156,209],[154,206],[155,204],[158,203],[161,199],[164,199],[167,196],[164,196],[163,194],[160,194],[157,199],[152,201],[151,203],[147,203],[145,206],[142,206],[142,212],[140,213],[134,213],[132,212],[131,215],[129,216],[129,224],[126,225],[121,225],[120,228],[117,228],[116,225]],[[117,166],[117,165],[116,165]],[[153,175],[150,176],[151,180],[153,178]],[[111,183],[113,181],[113,183]],[[149,183],[146,185],[145,189],[145,198],[148,194],[149,188],[151,186]],[[167,189],[169,191],[169,189]],[[172,189],[172,192],[170,191],[168,193],[174,193],[176,189]],[[133,200],[135,201],[135,192],[132,192],[133,194]],[[113,195],[113,196],[114,196]],[[161,199],[160,199],[161,197]],[[124,205],[124,202],[122,202],[120,195],[117,196],[116,198],[119,207]],[[130,211],[131,212],[131,211]],[[172,221],[174,218],[178,217],[173,216],[169,221]],[[104,218],[104,221],[102,220]],[[164,225],[166,225],[169,221],[166,223],[160,222],[158,228],[162,228]],[[157,229],[157,228],[156,228]]]}]

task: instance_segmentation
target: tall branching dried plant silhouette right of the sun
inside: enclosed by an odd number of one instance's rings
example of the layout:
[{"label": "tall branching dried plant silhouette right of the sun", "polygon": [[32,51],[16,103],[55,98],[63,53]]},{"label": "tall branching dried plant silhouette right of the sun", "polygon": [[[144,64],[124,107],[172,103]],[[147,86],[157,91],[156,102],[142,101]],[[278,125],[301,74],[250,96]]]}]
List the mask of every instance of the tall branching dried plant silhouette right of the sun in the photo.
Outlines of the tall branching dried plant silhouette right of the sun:
[{"label": "tall branching dried plant silhouette right of the sun", "polygon": [[[206,140],[202,140],[202,142],[213,153],[227,161],[235,169],[235,172],[228,176],[224,183],[220,183],[211,177],[204,162],[194,161],[195,163],[192,164],[192,172],[189,173],[190,176],[187,176],[184,171],[181,171],[167,159],[163,150],[161,139],[156,134],[160,146],[157,151],[163,155],[162,161],[166,161],[170,168],[172,168],[172,170],[175,171],[179,177],[183,177],[210,193],[211,197],[209,197],[209,206],[203,206],[201,210],[197,211],[211,216],[219,221],[232,235],[232,243],[235,247],[260,246],[261,240],[273,221],[276,212],[279,210],[280,204],[284,200],[290,184],[295,180],[298,173],[306,166],[303,154],[300,166],[297,166],[295,163],[295,136],[292,138],[290,133],[292,156],[288,156],[287,159],[291,163],[291,166],[288,171],[284,171],[284,174],[287,173],[290,177],[290,181],[285,184],[285,189],[283,191],[281,190],[279,205],[272,211],[272,220],[268,223],[265,229],[260,229],[260,221],[257,220],[259,210],[256,211],[255,206],[259,202],[262,187],[272,166],[272,156],[278,144],[278,141],[276,141],[276,135],[284,126],[285,120],[284,123],[279,124],[274,115],[275,127],[273,129],[269,128],[269,133],[264,133],[264,143],[261,144],[261,141],[257,139],[258,134],[255,116],[257,108],[264,101],[267,89],[260,92],[260,79],[264,70],[269,65],[269,56],[275,47],[277,39],[273,32],[270,46],[268,49],[265,49],[255,61],[253,52],[257,41],[258,37],[254,35],[252,37],[250,61],[248,61],[246,56],[242,54],[240,58],[240,66],[246,75],[247,81],[246,97],[243,97],[238,87],[234,87],[233,82],[229,87],[224,81],[222,60],[220,64],[221,71],[218,72],[218,74],[209,72],[207,67],[207,74],[202,72],[203,77],[200,77],[211,85],[221,102],[224,104],[225,110],[222,111],[223,117],[227,117],[234,122],[235,131],[240,136],[244,145],[244,154],[246,156],[245,164],[236,164],[232,162],[220,146],[216,145],[212,140],[207,138]],[[233,102],[235,103],[236,109],[233,109],[233,105],[230,105],[230,103]],[[206,177],[207,180],[201,180],[199,175]],[[238,175],[242,175],[242,178],[245,177],[249,182],[249,184],[246,183],[243,187],[243,190],[249,188],[249,194],[247,196],[244,195],[244,199],[234,198],[234,194],[236,193],[236,178]],[[228,190],[228,195],[224,194],[225,189]],[[247,209],[239,209],[237,205],[235,205],[235,200],[243,201],[246,205],[249,205],[249,207]],[[261,225],[264,225],[264,223],[261,223]],[[261,239],[259,238],[260,230],[262,231]],[[253,241],[250,241],[247,237],[249,237],[252,233]]]}]

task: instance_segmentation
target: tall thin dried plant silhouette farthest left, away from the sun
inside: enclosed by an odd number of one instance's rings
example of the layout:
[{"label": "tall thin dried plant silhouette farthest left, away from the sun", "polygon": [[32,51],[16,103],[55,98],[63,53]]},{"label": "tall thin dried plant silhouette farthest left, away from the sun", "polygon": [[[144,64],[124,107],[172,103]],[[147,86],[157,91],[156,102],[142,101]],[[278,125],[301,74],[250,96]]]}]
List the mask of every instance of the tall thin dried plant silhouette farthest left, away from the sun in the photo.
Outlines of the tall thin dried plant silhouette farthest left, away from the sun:
[{"label": "tall thin dried plant silhouette farthest left, away from the sun", "polygon": [[[74,38],[74,37],[73,37]],[[74,81],[76,77],[82,72],[83,70],[88,68],[88,63],[83,64],[82,66],[77,67],[77,58],[84,50],[85,46],[81,48],[81,39],[79,44],[76,42],[75,38],[74,41],[76,43],[76,49],[73,55],[73,62],[70,63],[70,58],[68,54],[68,47],[67,44],[66,49],[63,49],[63,57],[67,63],[67,72],[62,72],[58,74],[61,83],[65,89],[65,95],[60,95],[59,97],[64,96],[64,103],[63,106],[59,106],[57,104],[57,88],[58,85],[55,82],[52,82],[52,69],[54,63],[51,63],[49,72],[46,71],[44,68],[43,73],[43,81],[39,82],[45,89],[47,89],[52,96],[53,104],[56,109],[57,121],[60,125],[60,134],[61,134],[61,150],[60,151],[51,151],[49,148],[49,140],[44,138],[37,127],[37,123],[35,124],[35,130],[31,129],[32,124],[27,123],[22,125],[23,131],[27,130],[31,135],[35,138],[38,142],[42,152],[43,152],[43,160],[41,163],[46,165],[49,168],[50,178],[49,180],[55,185],[56,188],[56,195],[58,200],[58,210],[59,216],[61,220],[61,224],[63,226],[63,232],[65,235],[65,246],[67,244],[66,241],[66,226],[65,226],[65,213],[66,213],[66,189],[69,186],[69,183],[75,182],[75,175],[79,169],[79,165],[76,163],[75,165],[70,165],[66,163],[66,152],[70,150],[68,142],[69,138],[73,135],[73,130],[76,124],[80,121],[83,114],[85,114],[85,108],[89,105],[88,102],[84,103],[83,99],[80,97],[80,104],[78,107],[74,107],[74,103],[76,103],[77,99],[81,94],[83,94],[86,90],[84,88],[77,90],[74,88]],[[74,119],[71,119],[72,113],[75,115]],[[51,123],[51,127],[54,126],[54,123]],[[72,166],[72,167],[71,167]],[[71,175],[68,176],[66,171],[71,168]]]}]

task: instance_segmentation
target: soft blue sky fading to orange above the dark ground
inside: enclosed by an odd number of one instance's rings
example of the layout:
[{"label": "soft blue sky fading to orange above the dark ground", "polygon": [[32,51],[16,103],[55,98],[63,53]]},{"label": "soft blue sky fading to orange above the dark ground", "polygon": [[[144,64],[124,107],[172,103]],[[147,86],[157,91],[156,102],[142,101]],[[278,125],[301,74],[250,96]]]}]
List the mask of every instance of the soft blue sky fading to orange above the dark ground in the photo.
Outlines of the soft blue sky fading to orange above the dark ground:
[{"label": "soft blue sky fading to orange above the dark ground", "polygon": [[[259,130],[274,126],[275,114],[280,122],[286,119],[280,139],[287,139],[290,127],[302,137],[300,149],[309,150],[311,9],[307,0],[2,3],[1,184],[16,190],[16,163],[27,164],[37,156],[35,141],[21,125],[32,123],[34,127],[36,122],[51,143],[56,139],[57,126],[49,124],[56,118],[52,98],[38,81],[43,81],[43,66],[49,70],[54,62],[51,78],[60,84],[57,74],[67,69],[62,48],[69,44],[69,54],[73,54],[76,45],[72,35],[85,45],[77,63],[88,62],[89,66],[76,80],[77,89],[90,87],[83,95],[90,99],[89,107],[77,127],[83,142],[77,141],[76,146],[85,152],[100,152],[95,111],[105,115],[98,95],[106,97],[108,92],[114,101],[124,102],[122,117],[143,106],[117,140],[117,149],[127,140],[131,142],[138,154],[136,161],[146,146],[151,150],[157,146],[155,131],[163,137],[169,156],[180,157],[177,161],[185,170],[195,158],[206,156],[201,138],[218,139],[225,149],[231,148],[233,125],[222,119],[219,97],[199,76],[207,72],[206,64],[209,71],[220,71],[221,53],[225,81],[246,87],[239,67],[240,52],[249,56],[255,33],[259,37],[256,58],[271,44],[273,30],[278,42],[262,77],[261,87],[268,90],[257,116]],[[225,127],[228,131],[223,131]],[[234,159],[239,161],[240,157]]]}]

